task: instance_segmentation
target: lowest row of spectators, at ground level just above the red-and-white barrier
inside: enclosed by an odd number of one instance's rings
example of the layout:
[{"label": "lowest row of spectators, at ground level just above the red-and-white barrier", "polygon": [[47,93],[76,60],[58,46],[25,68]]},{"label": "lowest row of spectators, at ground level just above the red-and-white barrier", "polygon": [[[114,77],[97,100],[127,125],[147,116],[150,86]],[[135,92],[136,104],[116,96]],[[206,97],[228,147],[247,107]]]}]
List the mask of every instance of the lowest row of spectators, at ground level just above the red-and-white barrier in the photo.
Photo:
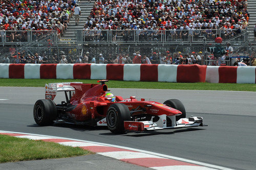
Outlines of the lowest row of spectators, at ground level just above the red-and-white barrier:
[{"label": "lowest row of spectators, at ground level just above the red-and-white barrier", "polygon": [[119,54],[108,56],[90,55],[89,52],[82,56],[69,56],[64,53],[57,55],[38,55],[27,54],[25,51],[17,53],[12,57],[5,56],[2,59],[2,63],[36,63],[36,64],[47,64],[47,63],[99,63],[99,64],[203,64],[202,63],[202,52],[191,52],[190,54],[170,53],[166,51],[164,53],[153,52],[151,55],[142,55],[139,51],[129,54]]}]

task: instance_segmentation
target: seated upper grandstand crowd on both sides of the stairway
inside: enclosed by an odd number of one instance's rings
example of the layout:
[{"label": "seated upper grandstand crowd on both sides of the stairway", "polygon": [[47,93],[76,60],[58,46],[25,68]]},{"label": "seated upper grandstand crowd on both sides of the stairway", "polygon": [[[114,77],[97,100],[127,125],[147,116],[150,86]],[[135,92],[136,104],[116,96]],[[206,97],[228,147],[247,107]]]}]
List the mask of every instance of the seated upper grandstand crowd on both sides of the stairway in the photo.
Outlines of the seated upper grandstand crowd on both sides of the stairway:
[{"label": "seated upper grandstand crowd on both sides of the stairway", "polygon": [[[56,30],[60,37],[78,3],[79,0],[2,0],[0,31]],[[231,38],[247,29],[248,19],[247,0],[97,0],[84,30],[95,30],[101,35],[97,31],[151,30],[139,32],[141,41],[157,40],[162,30],[169,30],[166,35],[171,41],[187,40],[189,36],[197,37],[199,34],[214,39],[217,35],[214,30],[219,29],[223,38]],[[21,33],[17,34],[23,37]],[[127,34],[124,39],[131,39],[129,32],[123,34]],[[13,36],[8,36],[11,41],[15,39]]]}]

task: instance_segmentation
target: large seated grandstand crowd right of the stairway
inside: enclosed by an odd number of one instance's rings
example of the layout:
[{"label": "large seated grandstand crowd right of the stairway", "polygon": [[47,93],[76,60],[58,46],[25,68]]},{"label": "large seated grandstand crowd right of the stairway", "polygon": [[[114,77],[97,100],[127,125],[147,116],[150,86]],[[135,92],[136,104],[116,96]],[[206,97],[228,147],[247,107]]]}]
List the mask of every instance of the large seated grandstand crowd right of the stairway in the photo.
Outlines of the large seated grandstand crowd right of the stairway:
[{"label": "large seated grandstand crowd right of the stairway", "polygon": [[[179,38],[219,29],[230,38],[247,29],[248,20],[247,0],[97,0],[84,30],[170,30],[171,38]],[[216,34],[205,32],[213,39]]]}]

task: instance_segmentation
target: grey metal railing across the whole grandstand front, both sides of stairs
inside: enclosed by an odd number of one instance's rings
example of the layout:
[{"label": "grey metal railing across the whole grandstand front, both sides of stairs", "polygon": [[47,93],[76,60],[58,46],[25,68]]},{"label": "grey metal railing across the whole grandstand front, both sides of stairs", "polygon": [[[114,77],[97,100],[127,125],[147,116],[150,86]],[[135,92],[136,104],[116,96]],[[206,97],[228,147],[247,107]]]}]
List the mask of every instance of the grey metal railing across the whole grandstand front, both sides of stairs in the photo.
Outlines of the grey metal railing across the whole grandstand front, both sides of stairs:
[{"label": "grey metal railing across the whole grandstand front, both sides of stairs", "polygon": [[[251,31],[251,30],[250,30]],[[198,44],[214,43],[217,34],[223,41],[248,41],[248,30],[69,30],[61,37],[56,31],[0,31],[0,44],[27,44],[49,36],[45,43],[58,44]],[[41,42],[42,43],[42,42]]]}]

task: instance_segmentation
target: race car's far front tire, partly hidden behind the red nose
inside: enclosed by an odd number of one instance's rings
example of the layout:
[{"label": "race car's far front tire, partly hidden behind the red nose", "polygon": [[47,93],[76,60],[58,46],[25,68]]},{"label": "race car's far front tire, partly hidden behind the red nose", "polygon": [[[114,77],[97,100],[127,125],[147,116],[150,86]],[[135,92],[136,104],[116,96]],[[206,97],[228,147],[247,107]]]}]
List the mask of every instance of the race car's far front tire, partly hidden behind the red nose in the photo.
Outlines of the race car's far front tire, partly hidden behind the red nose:
[{"label": "race car's far front tire, partly hidden behind the red nose", "polygon": [[185,107],[182,104],[182,102],[179,101],[178,99],[170,99],[170,100],[165,101],[163,104],[181,111],[182,114],[179,115],[179,116],[176,116],[176,121],[178,121],[180,118],[185,118],[186,117]]}]

